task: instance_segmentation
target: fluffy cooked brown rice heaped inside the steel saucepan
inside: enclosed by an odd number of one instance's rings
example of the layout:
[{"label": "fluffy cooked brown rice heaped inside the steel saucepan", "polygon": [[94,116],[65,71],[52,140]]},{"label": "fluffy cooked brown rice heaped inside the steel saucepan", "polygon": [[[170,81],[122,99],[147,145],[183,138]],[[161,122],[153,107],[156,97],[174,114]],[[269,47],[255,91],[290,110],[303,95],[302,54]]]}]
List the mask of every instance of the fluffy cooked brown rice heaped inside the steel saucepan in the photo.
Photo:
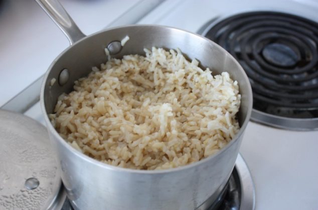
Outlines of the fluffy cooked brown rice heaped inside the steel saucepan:
[{"label": "fluffy cooked brown rice heaped inside the steel saucepan", "polygon": [[239,130],[237,81],[179,50],[144,51],[93,67],[60,95],[50,115],[60,135],[97,160],[135,169],[178,167],[224,147]]}]

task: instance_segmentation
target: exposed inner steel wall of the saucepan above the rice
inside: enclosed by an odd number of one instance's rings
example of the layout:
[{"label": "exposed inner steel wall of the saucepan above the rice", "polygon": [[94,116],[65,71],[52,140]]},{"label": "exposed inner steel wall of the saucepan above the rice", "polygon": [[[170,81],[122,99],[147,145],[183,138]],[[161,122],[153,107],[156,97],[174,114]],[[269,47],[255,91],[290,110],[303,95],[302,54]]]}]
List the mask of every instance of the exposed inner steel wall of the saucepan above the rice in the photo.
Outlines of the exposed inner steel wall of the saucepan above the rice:
[{"label": "exposed inner steel wall of the saucepan above the rice", "polygon": [[[91,72],[92,66],[100,66],[107,61],[105,47],[112,41],[120,41],[126,35],[129,40],[121,51],[112,57],[121,58],[126,54],[144,55],[143,48],[152,46],[166,49],[180,48],[184,55],[200,61],[201,67],[209,67],[213,74],[228,71],[237,80],[242,96],[238,113],[240,126],[249,119],[252,94],[248,78],[239,63],[225,49],[211,40],[181,29],[159,25],[130,25],[107,29],[83,38],[64,50],[51,64],[45,77],[42,98],[46,113],[53,113],[57,98],[63,92],[73,90],[74,81]],[[60,72],[67,68],[69,79],[64,85],[59,83]],[[51,79],[56,83],[50,85]]]}]

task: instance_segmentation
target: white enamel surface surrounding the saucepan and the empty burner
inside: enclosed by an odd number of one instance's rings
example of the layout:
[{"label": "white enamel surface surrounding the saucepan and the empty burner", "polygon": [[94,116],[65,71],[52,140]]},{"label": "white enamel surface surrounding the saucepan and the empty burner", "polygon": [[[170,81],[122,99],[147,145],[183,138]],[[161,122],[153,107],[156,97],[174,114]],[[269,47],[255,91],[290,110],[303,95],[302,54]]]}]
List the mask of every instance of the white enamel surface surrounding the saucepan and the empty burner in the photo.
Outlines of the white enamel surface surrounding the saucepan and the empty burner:
[{"label": "white enamel surface surrounding the saucepan and the empty burner", "polygon": [[[0,105],[44,73],[56,55],[68,46],[64,35],[33,1],[3,1],[5,6],[0,3]],[[62,3],[89,34],[103,28],[138,0],[123,1],[62,0]],[[139,23],[171,25],[196,32],[219,14],[261,8],[288,10],[318,21],[315,0],[226,3],[169,0]],[[26,115],[44,122],[39,103]],[[250,122],[240,152],[255,182],[256,210],[318,209],[318,131],[288,131]]]}]

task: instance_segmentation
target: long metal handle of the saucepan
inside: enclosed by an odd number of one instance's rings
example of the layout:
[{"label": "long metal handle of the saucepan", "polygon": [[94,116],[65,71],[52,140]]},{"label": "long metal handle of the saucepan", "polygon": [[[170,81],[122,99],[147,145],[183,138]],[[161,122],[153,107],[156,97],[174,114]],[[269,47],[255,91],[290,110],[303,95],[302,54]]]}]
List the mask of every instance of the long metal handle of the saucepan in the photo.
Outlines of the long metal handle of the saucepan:
[{"label": "long metal handle of the saucepan", "polygon": [[43,10],[59,26],[69,39],[72,45],[79,39],[85,37],[85,34],[78,28],[70,15],[58,0],[36,0]]}]

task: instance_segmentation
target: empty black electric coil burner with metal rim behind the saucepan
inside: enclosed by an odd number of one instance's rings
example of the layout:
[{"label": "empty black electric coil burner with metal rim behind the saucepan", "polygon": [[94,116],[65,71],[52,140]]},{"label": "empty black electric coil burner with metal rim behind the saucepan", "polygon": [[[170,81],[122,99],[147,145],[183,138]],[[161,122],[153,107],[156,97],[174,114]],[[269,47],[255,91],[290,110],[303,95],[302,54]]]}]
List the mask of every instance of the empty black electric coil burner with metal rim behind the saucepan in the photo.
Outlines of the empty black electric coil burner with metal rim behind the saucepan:
[{"label": "empty black electric coil burner with metal rim behind the saucepan", "polygon": [[318,23],[257,11],[213,21],[203,35],[242,65],[253,89],[252,120],[318,129]]}]

